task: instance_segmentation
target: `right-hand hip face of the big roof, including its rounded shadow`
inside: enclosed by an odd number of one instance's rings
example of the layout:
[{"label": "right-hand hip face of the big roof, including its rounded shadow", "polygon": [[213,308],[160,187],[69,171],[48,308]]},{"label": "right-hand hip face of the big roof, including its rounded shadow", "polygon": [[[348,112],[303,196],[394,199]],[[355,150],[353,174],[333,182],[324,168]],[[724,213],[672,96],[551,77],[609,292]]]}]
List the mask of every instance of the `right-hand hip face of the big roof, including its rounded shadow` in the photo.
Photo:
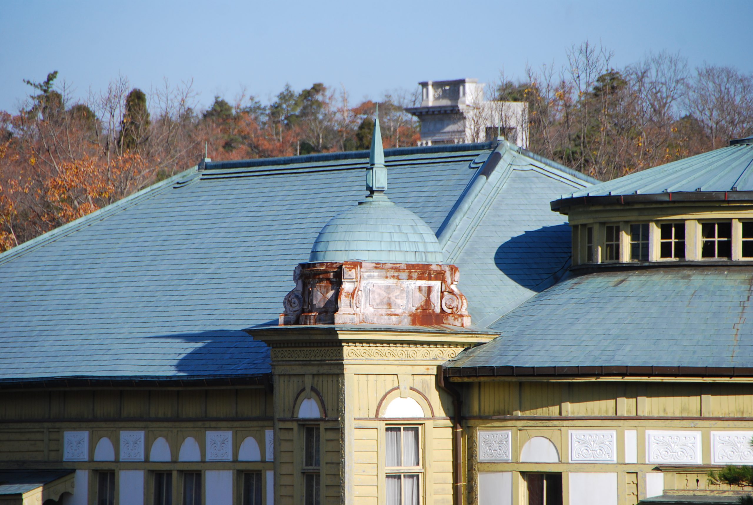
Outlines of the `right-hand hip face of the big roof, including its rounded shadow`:
[{"label": "right-hand hip face of the big roof, including its rounded shadow", "polygon": [[507,141],[498,145],[437,232],[445,261],[459,266],[474,324],[492,324],[562,277],[570,227],[549,202],[593,181]]}]

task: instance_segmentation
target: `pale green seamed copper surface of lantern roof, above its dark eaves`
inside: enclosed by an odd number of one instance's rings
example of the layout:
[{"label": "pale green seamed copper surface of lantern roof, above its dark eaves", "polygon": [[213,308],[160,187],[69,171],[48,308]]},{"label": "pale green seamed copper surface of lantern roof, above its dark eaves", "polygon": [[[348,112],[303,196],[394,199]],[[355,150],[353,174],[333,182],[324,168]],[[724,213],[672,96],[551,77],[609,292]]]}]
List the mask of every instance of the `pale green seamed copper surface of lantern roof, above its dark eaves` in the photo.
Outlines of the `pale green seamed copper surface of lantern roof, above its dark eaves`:
[{"label": "pale green seamed copper surface of lantern roof, above its dark eaves", "polygon": [[567,197],[753,191],[753,139],[602,182]]}]

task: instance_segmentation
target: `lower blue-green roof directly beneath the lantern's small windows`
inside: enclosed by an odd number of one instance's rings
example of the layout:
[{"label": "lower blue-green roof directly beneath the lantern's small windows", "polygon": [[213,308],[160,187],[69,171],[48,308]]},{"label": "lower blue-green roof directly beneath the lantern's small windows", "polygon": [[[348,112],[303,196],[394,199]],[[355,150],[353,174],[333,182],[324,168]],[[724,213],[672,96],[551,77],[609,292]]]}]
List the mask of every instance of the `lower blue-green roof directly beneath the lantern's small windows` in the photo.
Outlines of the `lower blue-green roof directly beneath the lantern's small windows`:
[{"label": "lower blue-green roof directly beneath the lantern's small windows", "polygon": [[572,276],[490,327],[450,367],[753,367],[753,266]]}]

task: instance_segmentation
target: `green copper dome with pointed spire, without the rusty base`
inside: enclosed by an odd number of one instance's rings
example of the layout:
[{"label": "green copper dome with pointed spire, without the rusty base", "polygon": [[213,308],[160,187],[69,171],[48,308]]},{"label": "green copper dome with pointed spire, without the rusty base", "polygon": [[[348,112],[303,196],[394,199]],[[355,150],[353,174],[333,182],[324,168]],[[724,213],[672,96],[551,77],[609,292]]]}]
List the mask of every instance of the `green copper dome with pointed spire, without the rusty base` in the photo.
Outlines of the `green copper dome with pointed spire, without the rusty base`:
[{"label": "green copper dome with pointed spire, without the rusty base", "polygon": [[437,236],[421,218],[390,202],[379,117],[374,121],[366,189],[369,196],[332,218],[311,248],[309,261],[442,263]]}]

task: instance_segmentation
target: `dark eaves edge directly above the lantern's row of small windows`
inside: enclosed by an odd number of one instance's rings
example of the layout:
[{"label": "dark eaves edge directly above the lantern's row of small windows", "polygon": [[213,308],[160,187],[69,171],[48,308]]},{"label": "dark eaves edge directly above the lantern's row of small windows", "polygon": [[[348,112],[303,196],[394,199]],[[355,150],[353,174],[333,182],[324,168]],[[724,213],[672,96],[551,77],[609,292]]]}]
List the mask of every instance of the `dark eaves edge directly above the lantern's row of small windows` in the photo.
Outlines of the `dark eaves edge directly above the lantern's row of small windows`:
[{"label": "dark eaves edge directly above the lantern's row of small windows", "polygon": [[550,207],[553,211],[567,214],[568,209],[572,207],[669,202],[751,203],[753,202],[753,191],[688,191],[677,193],[574,196],[556,199],[550,203]]}]

